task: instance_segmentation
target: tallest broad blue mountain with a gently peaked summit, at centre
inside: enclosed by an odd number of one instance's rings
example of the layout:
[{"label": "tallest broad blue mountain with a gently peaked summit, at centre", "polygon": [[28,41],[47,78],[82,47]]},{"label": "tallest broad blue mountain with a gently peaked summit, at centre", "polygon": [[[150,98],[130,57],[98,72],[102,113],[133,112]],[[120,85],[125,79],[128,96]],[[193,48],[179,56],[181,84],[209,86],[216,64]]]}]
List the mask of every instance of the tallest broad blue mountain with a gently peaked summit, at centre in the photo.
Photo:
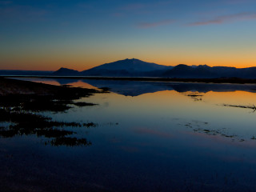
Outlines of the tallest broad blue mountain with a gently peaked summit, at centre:
[{"label": "tallest broad blue mountain with a gently peaked summit, at centre", "polygon": [[172,66],[162,66],[151,62],[143,62],[136,58],[126,58],[117,62],[110,62],[95,66],[81,72],[83,76],[110,77],[160,77],[165,70]]}]

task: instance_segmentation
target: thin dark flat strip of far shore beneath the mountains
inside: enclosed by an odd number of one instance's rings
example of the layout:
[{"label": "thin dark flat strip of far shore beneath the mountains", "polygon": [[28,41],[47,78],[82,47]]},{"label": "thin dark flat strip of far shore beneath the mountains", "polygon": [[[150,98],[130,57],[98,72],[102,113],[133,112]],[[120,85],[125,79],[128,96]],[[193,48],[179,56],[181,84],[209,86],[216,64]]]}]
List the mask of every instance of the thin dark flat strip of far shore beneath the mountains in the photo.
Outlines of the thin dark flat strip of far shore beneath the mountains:
[{"label": "thin dark flat strip of far shore beneath the mountains", "polygon": [[138,81],[138,82],[203,82],[203,83],[231,83],[231,84],[256,84],[256,79],[246,78],[139,78],[139,77],[86,77],[86,76],[41,76],[41,75],[6,75],[0,78],[66,78],[66,79],[94,79],[113,81]]}]

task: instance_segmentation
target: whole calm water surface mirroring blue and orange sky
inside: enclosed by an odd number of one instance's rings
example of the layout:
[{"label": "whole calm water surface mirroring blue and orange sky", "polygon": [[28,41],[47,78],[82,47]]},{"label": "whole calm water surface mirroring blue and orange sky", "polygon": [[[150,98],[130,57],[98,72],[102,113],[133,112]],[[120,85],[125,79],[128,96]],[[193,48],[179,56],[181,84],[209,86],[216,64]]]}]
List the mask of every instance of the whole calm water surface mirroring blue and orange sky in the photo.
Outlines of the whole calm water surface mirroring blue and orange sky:
[{"label": "whole calm water surface mirroring blue and orange sky", "polygon": [[[34,135],[0,139],[0,178],[17,191],[255,191],[255,85],[26,79],[109,87],[59,121],[91,146],[44,145]],[[0,191],[4,191],[1,190]]]}]

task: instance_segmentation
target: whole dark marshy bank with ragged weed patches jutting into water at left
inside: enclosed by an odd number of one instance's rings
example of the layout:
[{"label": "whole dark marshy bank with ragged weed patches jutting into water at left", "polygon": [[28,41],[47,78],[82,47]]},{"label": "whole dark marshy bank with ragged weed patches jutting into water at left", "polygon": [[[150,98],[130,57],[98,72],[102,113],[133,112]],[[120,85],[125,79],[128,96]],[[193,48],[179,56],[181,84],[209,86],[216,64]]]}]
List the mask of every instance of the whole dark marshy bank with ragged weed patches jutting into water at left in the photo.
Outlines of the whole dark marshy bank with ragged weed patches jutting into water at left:
[{"label": "whole dark marshy bank with ragged weed patches jutting into water at left", "polygon": [[98,90],[51,86],[37,82],[0,78],[0,138],[35,134],[49,138],[52,146],[88,146],[86,138],[72,137],[74,131],[62,127],[96,126],[94,122],[57,122],[42,112],[65,112],[73,106],[94,103],[74,102],[75,99],[100,93]]}]

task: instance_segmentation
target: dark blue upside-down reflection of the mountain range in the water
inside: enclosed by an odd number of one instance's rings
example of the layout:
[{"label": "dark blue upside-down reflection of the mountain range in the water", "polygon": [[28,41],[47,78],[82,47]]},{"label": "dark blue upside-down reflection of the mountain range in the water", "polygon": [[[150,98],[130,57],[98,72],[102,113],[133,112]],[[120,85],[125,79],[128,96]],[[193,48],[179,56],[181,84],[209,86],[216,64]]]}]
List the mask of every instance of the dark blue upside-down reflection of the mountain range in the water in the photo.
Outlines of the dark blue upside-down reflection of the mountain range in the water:
[{"label": "dark blue upside-down reflection of the mountain range in the water", "polygon": [[[56,79],[57,80],[57,79]],[[65,83],[69,83],[66,79]],[[140,94],[154,93],[161,90],[176,90],[178,92],[198,91],[206,93],[208,91],[224,92],[244,90],[256,92],[254,84],[217,84],[217,83],[189,83],[189,82],[135,82],[135,81],[116,81],[116,80],[77,80],[86,82],[91,86],[108,87],[111,92],[126,96],[138,96]],[[58,81],[62,84],[62,81]],[[70,79],[70,83],[74,79]]]}]

